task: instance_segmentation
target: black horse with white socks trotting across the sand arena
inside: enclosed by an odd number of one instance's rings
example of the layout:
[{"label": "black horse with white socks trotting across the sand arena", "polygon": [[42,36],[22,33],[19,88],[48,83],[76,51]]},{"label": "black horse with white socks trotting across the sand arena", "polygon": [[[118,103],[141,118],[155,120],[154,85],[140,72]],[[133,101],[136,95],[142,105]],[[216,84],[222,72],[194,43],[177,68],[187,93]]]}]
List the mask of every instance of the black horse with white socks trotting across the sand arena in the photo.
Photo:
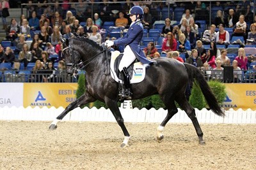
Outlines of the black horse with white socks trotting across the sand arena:
[{"label": "black horse with white socks trotting across the sand arena", "polygon": [[[73,74],[78,68],[86,70],[86,92],[61,113],[50,125],[49,129],[56,129],[57,123],[74,108],[96,100],[106,103],[124,132],[122,147],[128,146],[130,134],[124,125],[124,119],[118,108],[118,83],[109,74],[108,52],[101,46],[87,38],[71,38],[63,42],[63,54],[67,62],[67,73]],[[82,61],[82,62],[81,62]],[[223,110],[218,105],[216,97],[204,79],[204,75],[195,66],[183,64],[175,59],[159,58],[156,63],[147,67],[147,74],[141,83],[134,83],[132,87],[132,99],[159,94],[165,104],[168,113],[163,122],[157,127],[157,141],[164,138],[164,126],[170,118],[178,112],[175,101],[180,108],[186,111],[192,120],[198,135],[199,143],[204,144],[203,132],[198,124],[195,109],[188,103],[185,97],[188,82],[198,81],[200,89],[209,104],[209,108],[216,115],[224,116]]]}]

